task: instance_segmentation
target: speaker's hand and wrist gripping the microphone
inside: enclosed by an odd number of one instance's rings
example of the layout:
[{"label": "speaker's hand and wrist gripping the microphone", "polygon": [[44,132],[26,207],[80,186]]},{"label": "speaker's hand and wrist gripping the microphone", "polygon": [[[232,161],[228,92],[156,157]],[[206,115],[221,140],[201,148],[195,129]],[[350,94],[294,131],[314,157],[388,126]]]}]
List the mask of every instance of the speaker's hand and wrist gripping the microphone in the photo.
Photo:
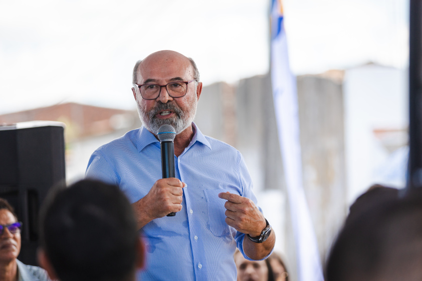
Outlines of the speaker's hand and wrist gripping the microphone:
[{"label": "speaker's hand and wrist gripping the microphone", "polygon": [[153,219],[182,210],[183,187],[185,186],[176,178],[156,181],[144,198],[132,204],[138,228],[142,228]]}]

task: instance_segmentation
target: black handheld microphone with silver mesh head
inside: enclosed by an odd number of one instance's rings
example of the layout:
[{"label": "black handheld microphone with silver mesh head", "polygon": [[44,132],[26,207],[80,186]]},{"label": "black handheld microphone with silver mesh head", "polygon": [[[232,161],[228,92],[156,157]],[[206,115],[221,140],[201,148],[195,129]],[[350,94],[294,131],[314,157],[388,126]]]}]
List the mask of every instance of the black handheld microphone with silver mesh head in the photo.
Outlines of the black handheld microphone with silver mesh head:
[{"label": "black handheld microphone with silver mesh head", "polygon": [[[174,143],[176,130],[171,125],[162,125],[158,129],[158,139],[161,146],[161,167],[163,171],[163,179],[175,178],[174,172]],[[170,213],[167,217],[173,217],[176,213]]]}]

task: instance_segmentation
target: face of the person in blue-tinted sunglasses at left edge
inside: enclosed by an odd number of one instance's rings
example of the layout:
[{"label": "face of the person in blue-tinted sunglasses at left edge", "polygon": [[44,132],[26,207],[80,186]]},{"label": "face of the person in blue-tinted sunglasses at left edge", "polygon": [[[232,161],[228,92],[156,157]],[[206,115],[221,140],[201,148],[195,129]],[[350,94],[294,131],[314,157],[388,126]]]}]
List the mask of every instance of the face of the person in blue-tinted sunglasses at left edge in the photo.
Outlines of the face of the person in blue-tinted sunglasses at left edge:
[{"label": "face of the person in blue-tinted sunglasses at left edge", "polygon": [[[9,225],[15,223],[13,214],[6,209],[0,209],[0,225]],[[4,228],[0,236],[0,263],[10,262],[17,258],[20,252],[20,233],[10,233]]]}]

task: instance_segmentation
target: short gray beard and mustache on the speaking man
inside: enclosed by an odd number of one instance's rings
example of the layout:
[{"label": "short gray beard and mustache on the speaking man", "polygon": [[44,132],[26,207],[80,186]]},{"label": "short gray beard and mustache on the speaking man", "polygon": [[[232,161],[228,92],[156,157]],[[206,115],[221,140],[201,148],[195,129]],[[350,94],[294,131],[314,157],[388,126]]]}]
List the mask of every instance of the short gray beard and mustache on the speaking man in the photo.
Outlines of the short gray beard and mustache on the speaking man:
[{"label": "short gray beard and mustache on the speaking man", "polygon": [[[142,97],[140,97],[142,98]],[[138,99],[139,100],[139,99]],[[176,135],[183,132],[187,127],[189,127],[196,115],[196,106],[197,99],[193,99],[189,111],[183,112],[175,103],[157,103],[157,105],[149,112],[145,112],[141,105],[136,102],[138,108],[139,119],[141,120],[143,126],[153,134],[157,134],[158,129],[165,124],[171,125],[175,131]],[[155,115],[161,110],[171,110],[175,113],[175,116],[167,119],[156,118]]]}]

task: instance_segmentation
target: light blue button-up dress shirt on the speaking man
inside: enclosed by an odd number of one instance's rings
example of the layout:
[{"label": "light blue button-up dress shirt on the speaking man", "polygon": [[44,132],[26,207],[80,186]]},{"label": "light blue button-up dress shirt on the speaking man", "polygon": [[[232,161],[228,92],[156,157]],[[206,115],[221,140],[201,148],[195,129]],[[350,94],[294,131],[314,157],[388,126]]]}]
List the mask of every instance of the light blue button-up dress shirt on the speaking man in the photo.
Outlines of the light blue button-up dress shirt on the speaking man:
[{"label": "light blue button-up dress shirt on the speaking man", "polygon": [[[226,200],[218,194],[229,191],[257,204],[252,181],[239,151],[193,126],[189,146],[174,157],[176,178],[187,185],[182,210],[141,229],[146,265],[138,280],[236,280],[233,254],[236,247],[244,254],[245,235],[226,224]],[[162,178],[160,153],[160,142],[141,127],[98,148],[86,177],[119,186],[134,203]]]}]

